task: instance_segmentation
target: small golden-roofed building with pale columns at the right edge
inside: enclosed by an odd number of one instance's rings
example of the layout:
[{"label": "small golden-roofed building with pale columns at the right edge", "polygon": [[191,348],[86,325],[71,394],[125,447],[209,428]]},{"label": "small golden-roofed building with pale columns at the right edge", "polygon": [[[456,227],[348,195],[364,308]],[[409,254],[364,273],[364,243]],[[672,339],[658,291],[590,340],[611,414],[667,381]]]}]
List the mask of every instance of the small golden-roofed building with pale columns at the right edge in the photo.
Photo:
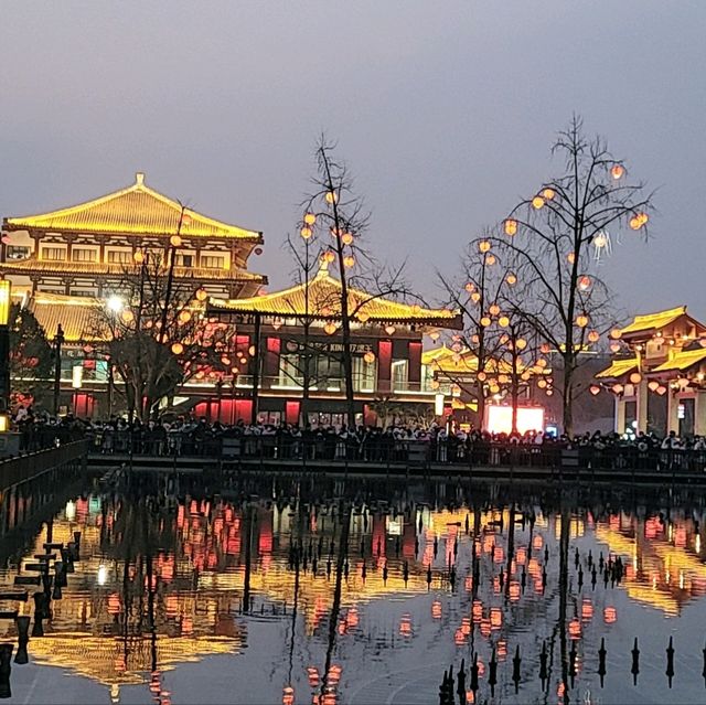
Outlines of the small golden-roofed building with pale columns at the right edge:
[{"label": "small golden-roofed building with pale columns at the right edge", "polygon": [[616,430],[706,435],[706,325],[681,306],[637,316],[612,337],[616,356],[591,391],[616,395]]}]

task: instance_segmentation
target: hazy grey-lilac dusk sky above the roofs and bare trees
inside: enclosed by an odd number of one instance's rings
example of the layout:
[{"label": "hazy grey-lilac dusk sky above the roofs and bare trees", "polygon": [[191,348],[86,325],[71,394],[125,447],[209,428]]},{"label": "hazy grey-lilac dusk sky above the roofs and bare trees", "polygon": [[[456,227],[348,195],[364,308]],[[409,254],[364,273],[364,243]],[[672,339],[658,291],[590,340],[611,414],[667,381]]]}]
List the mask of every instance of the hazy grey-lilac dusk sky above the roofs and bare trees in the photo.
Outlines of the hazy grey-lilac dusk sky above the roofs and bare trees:
[{"label": "hazy grey-lilac dusk sky above the roofs and bare trees", "polygon": [[[657,189],[653,238],[611,233],[625,313],[706,318],[706,2],[3,1],[0,214],[129,185],[281,244],[325,131],[372,212],[376,256],[435,269],[560,169],[574,111]],[[617,244],[620,239],[621,244]]]}]

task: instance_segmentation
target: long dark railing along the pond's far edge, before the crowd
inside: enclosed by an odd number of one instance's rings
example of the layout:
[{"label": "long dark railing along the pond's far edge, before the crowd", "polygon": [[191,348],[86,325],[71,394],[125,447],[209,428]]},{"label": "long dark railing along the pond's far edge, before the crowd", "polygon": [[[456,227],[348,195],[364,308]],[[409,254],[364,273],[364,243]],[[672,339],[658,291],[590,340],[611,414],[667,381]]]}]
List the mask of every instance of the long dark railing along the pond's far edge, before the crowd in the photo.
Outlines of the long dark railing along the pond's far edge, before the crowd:
[{"label": "long dark railing along the pond's far edge, before the crowd", "polygon": [[[131,446],[131,448],[130,448]],[[292,437],[287,434],[260,436],[213,435],[208,431],[140,434],[108,431],[93,436],[93,453],[136,456],[200,457],[268,461],[325,461],[330,463],[370,463],[371,466],[459,466],[505,468],[565,468],[577,472],[614,470],[630,472],[706,471],[704,450],[640,450],[620,445],[598,449],[592,446],[567,447],[560,444],[463,444],[456,440],[395,439],[376,436],[359,441],[335,434],[320,437]]]}]

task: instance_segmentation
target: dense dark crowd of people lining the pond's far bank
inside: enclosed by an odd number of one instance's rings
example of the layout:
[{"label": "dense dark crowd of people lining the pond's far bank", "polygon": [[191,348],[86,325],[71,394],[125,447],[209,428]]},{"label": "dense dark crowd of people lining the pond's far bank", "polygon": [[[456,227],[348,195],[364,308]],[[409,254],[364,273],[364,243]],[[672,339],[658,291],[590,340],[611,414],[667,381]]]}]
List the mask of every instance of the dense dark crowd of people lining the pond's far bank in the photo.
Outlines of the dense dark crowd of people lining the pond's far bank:
[{"label": "dense dark crowd of people lining the pond's far bank", "polygon": [[619,456],[651,463],[664,453],[691,451],[706,456],[706,438],[680,438],[674,431],[660,438],[639,432],[586,432],[569,438],[544,431],[491,434],[478,429],[449,428],[431,424],[392,424],[376,426],[298,426],[296,424],[225,425],[191,416],[163,417],[143,423],[113,417],[96,421],[72,415],[52,418],[21,408],[14,424],[24,450],[35,450],[77,438],[90,438],[93,452],[149,456],[243,456],[268,459],[306,458],[310,460],[362,460],[368,462],[405,461],[415,458],[431,462],[502,464],[517,456],[556,459],[564,450],[577,450],[579,457]]}]

